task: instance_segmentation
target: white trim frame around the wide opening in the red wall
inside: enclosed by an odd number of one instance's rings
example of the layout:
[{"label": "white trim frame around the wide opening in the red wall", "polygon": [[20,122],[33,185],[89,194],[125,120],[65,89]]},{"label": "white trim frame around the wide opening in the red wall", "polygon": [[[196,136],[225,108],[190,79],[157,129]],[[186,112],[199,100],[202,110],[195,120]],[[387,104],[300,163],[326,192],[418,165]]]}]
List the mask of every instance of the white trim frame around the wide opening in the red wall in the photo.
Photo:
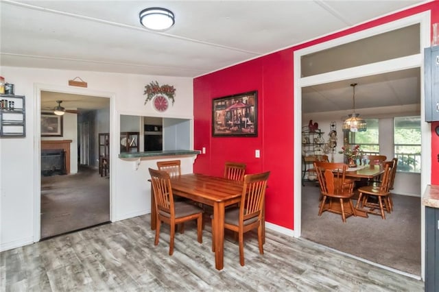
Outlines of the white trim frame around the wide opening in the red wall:
[{"label": "white trim frame around the wide opening in the red wall", "polygon": [[[425,96],[423,89],[424,82],[424,52],[423,48],[430,46],[430,29],[431,29],[431,12],[421,12],[412,16],[407,16],[403,19],[371,27],[360,32],[355,32],[347,36],[335,38],[327,42],[322,42],[317,45],[306,47],[294,51],[294,173],[301,173],[302,171],[302,150],[299,145],[302,145],[302,87],[311,86],[316,84],[324,84],[328,82],[335,82],[339,80],[346,80],[352,77],[363,77],[367,75],[375,75],[379,73],[386,73],[391,71],[398,71],[408,68],[420,67],[420,117],[421,117],[421,162],[423,168],[420,173],[420,194],[422,196],[423,191],[427,187],[427,184],[431,182],[431,129],[429,123],[425,122]],[[382,34],[383,32],[389,32],[394,29],[399,29],[407,25],[420,24],[420,53],[416,56],[408,56],[404,58],[397,58],[394,60],[388,60],[385,62],[378,62],[374,64],[366,64],[363,66],[357,66],[348,69],[342,69],[339,71],[333,71],[329,73],[323,73],[319,75],[313,75],[310,77],[300,77],[300,58],[303,55],[309,53],[315,53],[338,45],[343,45],[348,42],[353,42],[376,34]],[[302,228],[302,182],[301,175],[294,175],[294,236],[301,236]],[[425,276],[425,208],[421,206],[421,278]]]}]

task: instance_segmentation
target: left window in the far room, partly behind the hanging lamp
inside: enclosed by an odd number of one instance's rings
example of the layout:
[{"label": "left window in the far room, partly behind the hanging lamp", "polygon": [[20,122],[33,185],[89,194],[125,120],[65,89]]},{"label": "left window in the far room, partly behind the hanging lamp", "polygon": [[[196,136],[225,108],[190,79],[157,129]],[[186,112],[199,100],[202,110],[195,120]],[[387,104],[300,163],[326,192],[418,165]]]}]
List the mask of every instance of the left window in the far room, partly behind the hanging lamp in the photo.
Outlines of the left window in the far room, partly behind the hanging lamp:
[{"label": "left window in the far room, partly behind the hanging lamp", "polygon": [[365,119],[366,132],[346,132],[350,145],[359,145],[364,154],[379,154],[378,119]]}]

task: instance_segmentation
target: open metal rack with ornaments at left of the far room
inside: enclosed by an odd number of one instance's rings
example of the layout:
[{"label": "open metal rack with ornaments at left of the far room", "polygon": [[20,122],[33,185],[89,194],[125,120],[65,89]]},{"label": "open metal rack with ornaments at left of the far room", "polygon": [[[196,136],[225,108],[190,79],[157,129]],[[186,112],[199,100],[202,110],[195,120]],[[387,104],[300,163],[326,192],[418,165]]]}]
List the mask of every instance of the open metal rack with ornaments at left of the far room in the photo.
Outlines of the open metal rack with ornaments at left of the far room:
[{"label": "open metal rack with ornaments at left of the far room", "polygon": [[313,169],[313,162],[323,154],[324,138],[320,129],[311,131],[308,127],[302,129],[302,185],[309,182],[309,169]]}]

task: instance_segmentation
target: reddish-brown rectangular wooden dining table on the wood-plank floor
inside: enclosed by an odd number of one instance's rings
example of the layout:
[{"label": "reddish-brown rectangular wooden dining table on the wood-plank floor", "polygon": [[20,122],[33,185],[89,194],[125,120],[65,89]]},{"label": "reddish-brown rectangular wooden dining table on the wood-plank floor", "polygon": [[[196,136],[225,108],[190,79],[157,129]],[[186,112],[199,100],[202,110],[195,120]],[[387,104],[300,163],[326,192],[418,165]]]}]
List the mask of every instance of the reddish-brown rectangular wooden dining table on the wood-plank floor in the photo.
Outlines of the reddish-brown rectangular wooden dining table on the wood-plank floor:
[{"label": "reddish-brown rectangular wooden dining table on the wood-plank floor", "polygon": [[[224,267],[224,210],[226,206],[241,201],[243,185],[243,182],[198,173],[171,178],[175,195],[213,206],[212,232],[215,238],[215,268],[218,270]],[[153,192],[151,206],[151,228],[154,230],[157,218]]]}]

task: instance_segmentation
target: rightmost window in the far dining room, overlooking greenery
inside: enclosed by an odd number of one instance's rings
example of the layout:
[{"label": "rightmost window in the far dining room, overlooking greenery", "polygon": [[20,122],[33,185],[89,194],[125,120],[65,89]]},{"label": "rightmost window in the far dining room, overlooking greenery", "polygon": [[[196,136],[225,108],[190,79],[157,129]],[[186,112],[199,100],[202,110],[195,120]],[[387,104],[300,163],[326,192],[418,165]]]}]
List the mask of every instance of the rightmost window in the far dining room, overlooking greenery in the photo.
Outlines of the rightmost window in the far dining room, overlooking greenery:
[{"label": "rightmost window in the far dining room, overlooking greenery", "polygon": [[397,170],[420,173],[420,117],[395,117],[393,121]]}]

